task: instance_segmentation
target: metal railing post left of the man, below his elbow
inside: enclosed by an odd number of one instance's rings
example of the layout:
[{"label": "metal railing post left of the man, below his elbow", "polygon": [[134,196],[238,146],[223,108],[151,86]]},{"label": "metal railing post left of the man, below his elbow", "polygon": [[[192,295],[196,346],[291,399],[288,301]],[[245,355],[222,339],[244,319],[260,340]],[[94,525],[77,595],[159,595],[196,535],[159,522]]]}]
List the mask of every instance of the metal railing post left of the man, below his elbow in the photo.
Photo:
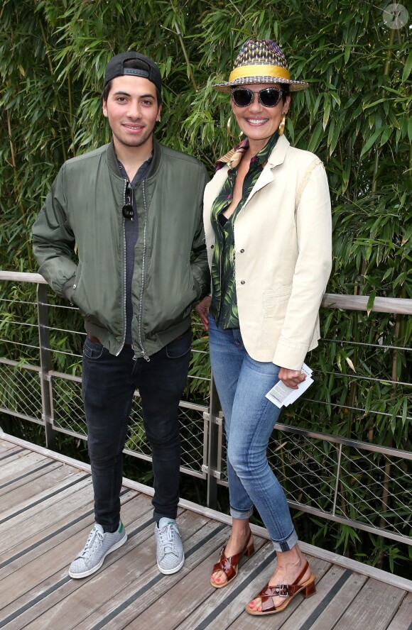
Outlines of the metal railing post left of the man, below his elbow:
[{"label": "metal railing post left of the man, below his elbow", "polygon": [[53,430],[51,399],[50,399],[50,335],[48,328],[48,295],[47,284],[37,285],[37,314],[38,314],[38,340],[40,346],[40,388],[42,418],[45,428],[46,448],[54,450],[55,431]]}]

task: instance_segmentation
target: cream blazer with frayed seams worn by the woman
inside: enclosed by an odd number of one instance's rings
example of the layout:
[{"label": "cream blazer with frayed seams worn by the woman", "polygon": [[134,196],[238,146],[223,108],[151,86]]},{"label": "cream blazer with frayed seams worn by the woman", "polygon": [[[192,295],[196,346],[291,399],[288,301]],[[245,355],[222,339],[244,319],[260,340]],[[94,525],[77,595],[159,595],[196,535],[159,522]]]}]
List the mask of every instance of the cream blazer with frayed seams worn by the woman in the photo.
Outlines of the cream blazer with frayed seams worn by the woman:
[{"label": "cream blazer with frayed seams worn by the woman", "polygon": [[[207,184],[204,221],[212,266],[212,204],[228,167]],[[318,346],[319,307],[332,267],[325,167],[281,136],[234,221],[235,281],[244,347],[257,361],[300,370]]]}]

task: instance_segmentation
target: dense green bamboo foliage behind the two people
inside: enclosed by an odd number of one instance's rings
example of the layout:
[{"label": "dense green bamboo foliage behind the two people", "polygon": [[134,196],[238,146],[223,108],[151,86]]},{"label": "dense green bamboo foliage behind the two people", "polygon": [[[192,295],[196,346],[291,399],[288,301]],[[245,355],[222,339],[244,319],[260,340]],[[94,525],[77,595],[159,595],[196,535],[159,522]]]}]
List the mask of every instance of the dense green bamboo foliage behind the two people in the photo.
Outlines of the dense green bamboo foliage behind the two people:
[{"label": "dense green bamboo foliage behind the two people", "polygon": [[[310,89],[293,95],[286,135],[293,145],[317,153],[327,169],[334,222],[327,291],[367,294],[369,306],[376,295],[412,297],[412,16],[399,31],[391,30],[383,23],[387,4],[3,0],[1,269],[36,271],[31,224],[58,168],[109,140],[100,93],[112,55],[139,50],[158,62],[164,85],[158,140],[196,155],[212,174],[217,157],[233,143],[226,131],[229,99],[212,86],[227,79],[244,40],[271,38],[283,46],[292,76],[310,82]],[[6,299],[32,299],[22,286],[13,287],[12,295],[10,287],[0,292]],[[67,318],[60,328],[70,329]],[[391,375],[395,382],[410,381],[411,365],[402,349],[375,350],[382,344],[407,348],[411,323],[403,316],[349,311],[324,311],[322,318],[322,335],[332,341],[308,362],[323,374],[314,396],[331,404],[322,411],[299,407],[283,421],[411,450],[410,399],[379,380]],[[21,335],[8,316],[0,328],[11,340]],[[29,343],[36,331],[24,334]],[[60,337],[58,343],[70,347],[71,341]],[[207,350],[200,329],[195,347]],[[207,372],[205,356],[195,358],[193,373]],[[56,367],[72,370],[63,363]],[[354,370],[359,380],[351,384]],[[362,381],[371,375],[373,385]],[[206,392],[190,394],[204,399]],[[388,416],[376,421],[368,414],[372,404]],[[364,541],[351,536],[344,528],[337,531],[337,548],[343,545],[346,553],[352,546],[356,555]]]}]

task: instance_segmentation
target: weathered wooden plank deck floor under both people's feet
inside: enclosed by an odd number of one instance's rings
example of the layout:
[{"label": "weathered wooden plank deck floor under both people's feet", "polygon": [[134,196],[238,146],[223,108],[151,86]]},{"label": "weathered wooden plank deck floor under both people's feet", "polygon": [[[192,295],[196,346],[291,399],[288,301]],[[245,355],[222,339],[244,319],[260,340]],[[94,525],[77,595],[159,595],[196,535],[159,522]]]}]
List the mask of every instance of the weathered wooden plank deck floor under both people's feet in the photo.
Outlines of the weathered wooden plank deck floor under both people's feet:
[{"label": "weathered wooden plank deck floor under both people's feet", "polygon": [[[57,457],[57,459],[56,459]],[[87,465],[0,433],[0,627],[141,630],[409,630],[412,582],[302,543],[317,579],[313,597],[251,617],[244,604],[273,572],[266,531],[229,587],[210,586],[229,533],[228,517],[182,502],[186,561],[158,573],[149,488],[124,480],[127,543],[98,573],[72,580],[67,568],[93,524]],[[146,492],[142,491],[146,490]]]}]

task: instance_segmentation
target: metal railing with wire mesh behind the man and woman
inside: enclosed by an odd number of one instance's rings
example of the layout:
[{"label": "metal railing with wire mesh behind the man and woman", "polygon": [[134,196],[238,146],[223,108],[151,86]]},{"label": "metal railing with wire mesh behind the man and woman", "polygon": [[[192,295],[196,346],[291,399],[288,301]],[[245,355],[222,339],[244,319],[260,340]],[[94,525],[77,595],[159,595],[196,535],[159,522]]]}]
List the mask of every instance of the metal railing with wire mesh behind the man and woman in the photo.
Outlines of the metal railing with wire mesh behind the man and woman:
[{"label": "metal railing with wire mesh behind the man and woman", "polygon": [[[77,348],[81,348],[85,333],[73,331],[60,324],[60,321],[67,318],[69,311],[77,309],[56,301],[53,292],[50,292],[49,301],[48,286],[38,274],[0,272],[0,281],[3,288],[4,282],[11,283],[7,284],[10,287],[6,291],[7,297],[0,299],[0,344],[2,348],[10,349],[6,352],[9,356],[0,358],[0,414],[42,425],[48,448],[53,449],[56,432],[87,439],[81,397],[81,350],[78,353],[75,350],[67,352],[64,349],[67,344],[63,346],[62,343],[67,342],[68,337],[76,337]],[[37,285],[37,294],[33,296],[33,300],[19,297],[18,287],[21,287],[21,283]],[[4,294],[5,292],[3,296]],[[367,304],[367,297],[332,294],[325,294],[322,302],[325,309],[340,309],[345,313],[365,311]],[[412,314],[412,300],[376,298],[373,310],[378,313]],[[50,319],[57,324],[50,324]],[[25,334],[16,334],[13,339],[3,338],[1,331],[10,325],[16,331],[25,331]],[[79,328],[81,327],[82,321],[79,319]],[[52,336],[53,343],[50,342]],[[23,341],[18,341],[20,337],[24,337]],[[326,352],[334,344],[340,344],[342,348],[343,340],[328,338],[322,343]],[[390,351],[395,357],[399,350],[403,353],[410,352],[410,348],[385,345],[382,339],[376,344],[358,341],[354,345],[367,346],[373,353],[387,354]],[[18,357],[10,358],[13,355],[11,348]],[[193,352],[207,353],[207,350]],[[28,362],[21,359],[21,356],[28,354],[34,357],[36,353],[38,365],[34,361],[32,363],[32,360]],[[67,364],[67,355],[72,361],[72,373],[53,369],[56,363]],[[345,352],[342,356],[345,357]],[[350,358],[346,358],[350,365]],[[324,379],[329,379],[329,382],[336,382],[338,377],[349,380],[352,387],[352,390],[349,387],[349,391],[352,393],[357,387],[357,380],[365,378],[353,370],[350,373],[339,370],[333,374],[318,370],[318,373]],[[181,471],[205,480],[207,505],[215,508],[217,486],[227,485],[224,417],[212,377],[207,375],[189,378],[200,383],[202,392],[205,391],[206,382],[209,391],[207,399],[203,395],[201,402],[180,402]],[[388,376],[371,373],[367,379],[372,391],[377,382],[388,388],[401,387],[402,391],[411,387],[408,382],[396,380],[394,374]],[[408,396],[403,398],[408,400]],[[318,429],[292,426],[285,421],[277,424],[269,443],[269,461],[276,469],[290,506],[322,519],[412,544],[412,452],[382,446],[374,440],[376,423],[391,421],[405,426],[405,423],[411,421],[408,408],[403,405],[402,409],[394,411],[385,407],[382,401],[374,408],[371,400],[365,400],[364,407],[359,407],[359,404],[351,404],[355,398],[352,401],[332,400],[327,397],[304,400],[306,409],[310,409],[313,417],[325,416],[326,408],[328,413],[330,409],[337,409],[343,416],[361,414],[362,417],[363,414],[370,425],[369,439],[354,440]],[[283,419],[287,420],[288,416],[284,414]],[[296,417],[294,420],[296,424]],[[151,460],[141,419],[139,392],[134,397],[125,453]]]}]

